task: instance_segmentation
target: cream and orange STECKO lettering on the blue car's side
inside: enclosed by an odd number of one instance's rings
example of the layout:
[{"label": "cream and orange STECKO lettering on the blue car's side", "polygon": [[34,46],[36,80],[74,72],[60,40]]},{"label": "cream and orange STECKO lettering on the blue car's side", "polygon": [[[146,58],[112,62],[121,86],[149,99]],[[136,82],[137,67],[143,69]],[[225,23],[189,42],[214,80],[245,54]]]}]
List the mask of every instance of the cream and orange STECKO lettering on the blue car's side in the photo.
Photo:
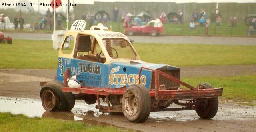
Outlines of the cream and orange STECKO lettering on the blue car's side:
[{"label": "cream and orange STECKO lettering on the blue car's side", "polygon": [[[110,85],[132,85],[139,84],[139,75],[138,74],[109,74],[108,84]],[[119,81],[120,80],[120,81]],[[147,78],[145,75],[140,76],[140,81],[142,85],[146,85]]]}]

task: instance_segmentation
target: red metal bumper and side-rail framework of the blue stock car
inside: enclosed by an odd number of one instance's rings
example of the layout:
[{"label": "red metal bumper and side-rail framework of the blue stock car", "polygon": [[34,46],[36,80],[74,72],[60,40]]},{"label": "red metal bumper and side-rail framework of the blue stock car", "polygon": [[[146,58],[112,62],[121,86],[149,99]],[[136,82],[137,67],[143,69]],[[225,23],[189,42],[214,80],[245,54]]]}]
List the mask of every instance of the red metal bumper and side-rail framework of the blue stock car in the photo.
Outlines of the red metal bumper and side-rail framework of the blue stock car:
[{"label": "red metal bumper and side-rail framework of the blue stock car", "polygon": [[[151,70],[154,73],[155,77],[155,89],[149,90],[149,94],[151,97],[154,97],[156,102],[156,106],[159,103],[159,100],[188,100],[188,99],[200,99],[200,98],[214,98],[217,96],[222,95],[223,88],[214,88],[214,89],[198,89],[195,88],[185,82],[182,82],[181,80],[174,78],[173,76],[170,76],[169,74],[166,74],[165,72],[162,72],[160,70],[154,70],[150,68],[141,67],[139,71],[139,78],[140,74],[143,69]],[[159,86],[159,74],[162,76],[165,76],[169,80],[176,82],[178,84],[181,84],[190,90],[160,90]],[[67,84],[66,79],[68,78],[69,70],[67,69],[64,75],[64,83]],[[43,85],[43,84],[41,84]],[[69,87],[63,87],[62,90],[64,92],[77,92],[77,93],[83,93],[83,94],[92,94],[96,95],[97,97],[97,103],[98,106],[96,106],[100,112],[122,112],[122,110],[111,110],[110,103],[109,103],[109,95],[123,95],[126,87],[123,88],[96,88],[96,87],[86,87],[83,86],[82,88],[69,88]],[[78,94],[77,94],[78,95]],[[106,96],[106,102],[108,106],[101,106],[100,105],[100,96]],[[151,111],[176,111],[176,110],[192,110],[194,109],[193,106],[187,104],[187,103],[179,103],[177,104],[186,106],[182,108],[156,108],[152,109]]]}]

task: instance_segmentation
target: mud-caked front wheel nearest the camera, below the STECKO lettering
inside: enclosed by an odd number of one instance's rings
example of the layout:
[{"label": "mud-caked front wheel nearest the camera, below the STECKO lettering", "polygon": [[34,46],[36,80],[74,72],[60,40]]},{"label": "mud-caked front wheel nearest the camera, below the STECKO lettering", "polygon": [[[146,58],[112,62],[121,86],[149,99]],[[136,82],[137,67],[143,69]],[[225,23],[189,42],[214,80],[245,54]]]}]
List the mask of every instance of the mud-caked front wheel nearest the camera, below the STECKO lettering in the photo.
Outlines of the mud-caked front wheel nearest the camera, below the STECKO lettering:
[{"label": "mud-caked front wheel nearest the camera, below the STECKO lettering", "polygon": [[129,86],[122,98],[122,110],[124,116],[130,122],[145,122],[151,110],[151,99],[148,89],[138,84]]}]

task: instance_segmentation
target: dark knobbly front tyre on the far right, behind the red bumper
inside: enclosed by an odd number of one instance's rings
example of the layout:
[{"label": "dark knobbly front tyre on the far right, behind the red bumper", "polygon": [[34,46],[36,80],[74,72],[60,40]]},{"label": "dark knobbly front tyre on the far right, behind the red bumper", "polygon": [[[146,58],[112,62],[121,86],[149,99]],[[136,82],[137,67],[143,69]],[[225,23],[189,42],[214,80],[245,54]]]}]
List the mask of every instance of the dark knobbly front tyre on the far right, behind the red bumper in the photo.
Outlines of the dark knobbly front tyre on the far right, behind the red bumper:
[{"label": "dark knobbly front tyre on the far right, behind the red bumper", "polygon": [[[213,89],[214,87],[209,83],[198,84],[199,89]],[[218,97],[208,98],[208,99],[198,99],[200,104],[196,106],[196,113],[202,119],[213,118],[218,111]]]}]

